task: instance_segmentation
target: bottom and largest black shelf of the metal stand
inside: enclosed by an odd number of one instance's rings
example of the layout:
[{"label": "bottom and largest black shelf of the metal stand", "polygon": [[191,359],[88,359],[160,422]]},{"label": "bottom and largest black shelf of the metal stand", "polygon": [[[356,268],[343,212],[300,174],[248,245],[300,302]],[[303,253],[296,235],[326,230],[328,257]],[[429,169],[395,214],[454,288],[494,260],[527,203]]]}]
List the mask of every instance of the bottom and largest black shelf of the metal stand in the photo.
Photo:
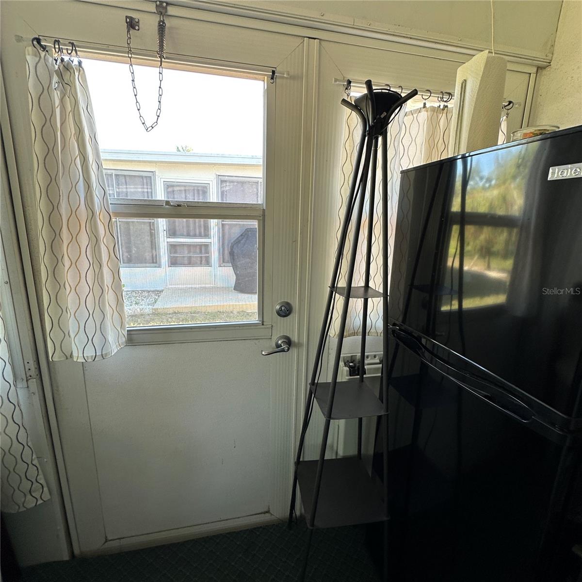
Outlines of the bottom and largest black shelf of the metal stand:
[{"label": "bottom and largest black shelf of the metal stand", "polygon": [[[297,467],[301,500],[311,515],[317,461],[302,461]],[[381,486],[372,481],[357,457],[326,459],[315,512],[315,528],[355,526],[388,519]]]}]

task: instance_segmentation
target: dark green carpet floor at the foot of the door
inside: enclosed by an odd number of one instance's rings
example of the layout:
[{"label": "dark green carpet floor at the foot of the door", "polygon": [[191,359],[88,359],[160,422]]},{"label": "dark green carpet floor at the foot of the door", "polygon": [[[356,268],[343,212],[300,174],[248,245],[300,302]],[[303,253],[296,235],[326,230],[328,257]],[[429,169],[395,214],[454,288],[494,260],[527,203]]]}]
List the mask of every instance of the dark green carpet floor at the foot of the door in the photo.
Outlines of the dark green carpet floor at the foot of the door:
[{"label": "dark green carpet floor at the foot of the door", "polygon": [[[295,582],[307,528],[257,527],[24,570],[23,582]],[[315,530],[310,582],[378,582],[361,527]]]}]

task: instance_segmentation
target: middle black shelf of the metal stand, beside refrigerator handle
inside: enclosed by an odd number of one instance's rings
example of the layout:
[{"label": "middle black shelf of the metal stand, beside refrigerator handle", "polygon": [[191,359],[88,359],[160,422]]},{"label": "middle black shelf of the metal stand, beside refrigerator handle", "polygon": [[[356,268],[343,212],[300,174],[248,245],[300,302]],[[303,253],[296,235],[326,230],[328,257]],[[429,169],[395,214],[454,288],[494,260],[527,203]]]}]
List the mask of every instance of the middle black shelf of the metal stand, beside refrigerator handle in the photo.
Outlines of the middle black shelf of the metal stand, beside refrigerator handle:
[{"label": "middle black shelf of the metal stand, beside refrigerator handle", "polygon": [[[329,418],[338,420],[386,414],[384,405],[377,396],[379,385],[379,376],[364,378],[364,382],[360,382],[360,378],[357,377],[345,382],[338,382],[335,386],[332,413]],[[320,382],[317,387],[310,386],[311,392],[313,392],[325,418],[328,418],[325,413],[327,411],[330,388],[331,382]]]}]

